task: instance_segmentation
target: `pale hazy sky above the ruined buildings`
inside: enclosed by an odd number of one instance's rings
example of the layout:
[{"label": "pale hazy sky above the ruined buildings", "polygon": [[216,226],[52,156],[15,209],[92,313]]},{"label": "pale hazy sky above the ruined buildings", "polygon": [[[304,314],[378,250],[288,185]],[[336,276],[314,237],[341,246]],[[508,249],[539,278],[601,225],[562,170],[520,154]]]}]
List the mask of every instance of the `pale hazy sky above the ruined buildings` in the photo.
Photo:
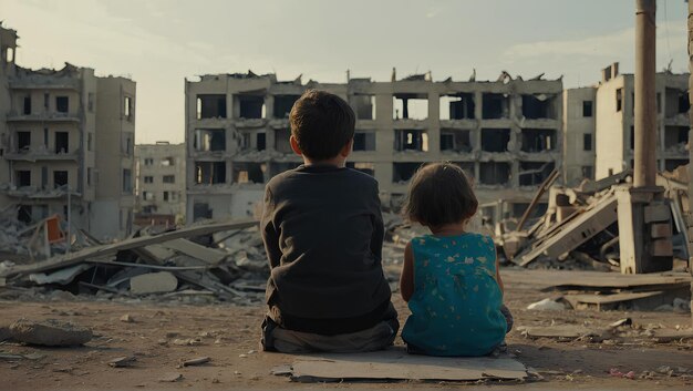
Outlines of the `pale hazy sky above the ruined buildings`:
[{"label": "pale hazy sky above the ruined buildings", "polygon": [[[1,0],[17,63],[64,62],[137,82],[136,143],[184,141],[184,81],[277,73],[279,80],[389,81],[563,76],[591,85],[634,65],[634,0]],[[687,72],[687,4],[658,1],[658,70]]]}]

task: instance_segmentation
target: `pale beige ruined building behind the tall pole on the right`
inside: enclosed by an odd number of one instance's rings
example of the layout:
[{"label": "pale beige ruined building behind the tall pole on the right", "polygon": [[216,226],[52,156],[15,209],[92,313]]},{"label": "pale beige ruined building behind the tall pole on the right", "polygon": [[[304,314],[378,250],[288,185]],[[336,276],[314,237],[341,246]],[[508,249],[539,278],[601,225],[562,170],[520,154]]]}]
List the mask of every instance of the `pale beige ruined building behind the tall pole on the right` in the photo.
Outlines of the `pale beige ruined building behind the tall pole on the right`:
[{"label": "pale beige ruined building behind the tall pole on the right", "polygon": [[[689,74],[658,73],[656,113],[659,171],[673,171],[689,163]],[[596,177],[633,167],[634,79],[619,74],[618,63],[602,71],[597,88]]]}]

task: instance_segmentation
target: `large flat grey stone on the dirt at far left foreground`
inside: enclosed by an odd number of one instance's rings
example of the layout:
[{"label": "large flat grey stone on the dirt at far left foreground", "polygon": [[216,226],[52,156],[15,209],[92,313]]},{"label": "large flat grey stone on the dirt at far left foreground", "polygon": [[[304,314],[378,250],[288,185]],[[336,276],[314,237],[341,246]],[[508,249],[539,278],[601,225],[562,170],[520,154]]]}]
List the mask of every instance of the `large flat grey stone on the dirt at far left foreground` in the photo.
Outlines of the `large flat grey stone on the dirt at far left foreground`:
[{"label": "large flat grey stone on the dirt at far left foreground", "polygon": [[12,339],[28,344],[46,347],[70,347],[89,342],[92,330],[71,322],[48,319],[31,321],[20,319],[10,326]]}]

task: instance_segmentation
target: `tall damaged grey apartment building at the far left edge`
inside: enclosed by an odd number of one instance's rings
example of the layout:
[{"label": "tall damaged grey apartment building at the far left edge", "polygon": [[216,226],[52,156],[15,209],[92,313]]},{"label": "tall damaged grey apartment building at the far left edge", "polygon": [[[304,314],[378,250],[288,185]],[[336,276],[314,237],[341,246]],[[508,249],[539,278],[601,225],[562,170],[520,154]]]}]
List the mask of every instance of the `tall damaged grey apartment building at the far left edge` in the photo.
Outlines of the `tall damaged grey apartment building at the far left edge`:
[{"label": "tall damaged grey apartment building at the far left edge", "polygon": [[0,207],[28,224],[59,215],[99,238],[130,233],[135,82],[65,64],[15,64],[17,32],[0,25]]}]

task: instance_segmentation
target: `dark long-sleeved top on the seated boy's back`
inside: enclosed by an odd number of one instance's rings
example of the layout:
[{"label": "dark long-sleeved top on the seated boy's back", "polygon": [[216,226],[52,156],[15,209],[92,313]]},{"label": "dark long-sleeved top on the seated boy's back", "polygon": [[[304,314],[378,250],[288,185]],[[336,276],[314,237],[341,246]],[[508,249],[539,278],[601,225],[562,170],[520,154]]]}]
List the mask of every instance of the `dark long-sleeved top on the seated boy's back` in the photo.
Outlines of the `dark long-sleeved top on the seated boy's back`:
[{"label": "dark long-sleeved top on the seated boy's back", "polygon": [[377,182],[332,165],[301,165],[266,186],[260,226],[271,275],[266,299],[281,327],[322,335],[360,331],[383,320]]}]

